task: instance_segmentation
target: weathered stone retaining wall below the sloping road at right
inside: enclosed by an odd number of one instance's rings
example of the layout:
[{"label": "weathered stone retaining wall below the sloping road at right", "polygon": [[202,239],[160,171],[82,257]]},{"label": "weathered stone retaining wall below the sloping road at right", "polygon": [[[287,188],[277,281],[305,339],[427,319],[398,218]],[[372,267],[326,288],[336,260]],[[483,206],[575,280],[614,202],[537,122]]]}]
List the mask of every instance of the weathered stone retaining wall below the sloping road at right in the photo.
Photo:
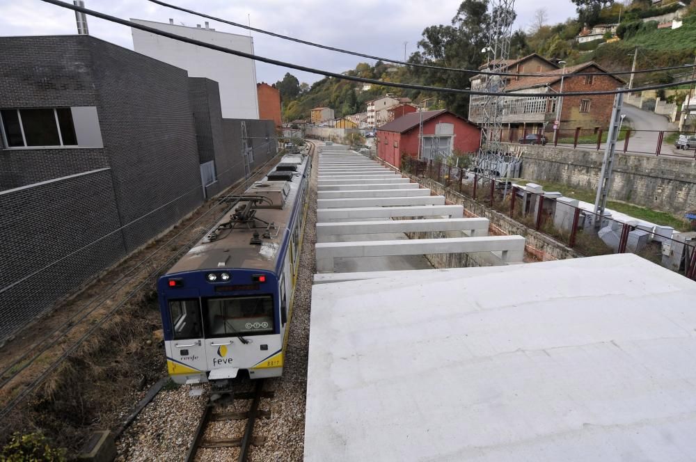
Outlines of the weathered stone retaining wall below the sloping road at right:
[{"label": "weathered stone retaining wall below the sloping road at right", "polygon": [[[603,151],[527,146],[522,176],[596,189]],[[609,198],[683,214],[696,204],[696,161],[617,154]]]}]

